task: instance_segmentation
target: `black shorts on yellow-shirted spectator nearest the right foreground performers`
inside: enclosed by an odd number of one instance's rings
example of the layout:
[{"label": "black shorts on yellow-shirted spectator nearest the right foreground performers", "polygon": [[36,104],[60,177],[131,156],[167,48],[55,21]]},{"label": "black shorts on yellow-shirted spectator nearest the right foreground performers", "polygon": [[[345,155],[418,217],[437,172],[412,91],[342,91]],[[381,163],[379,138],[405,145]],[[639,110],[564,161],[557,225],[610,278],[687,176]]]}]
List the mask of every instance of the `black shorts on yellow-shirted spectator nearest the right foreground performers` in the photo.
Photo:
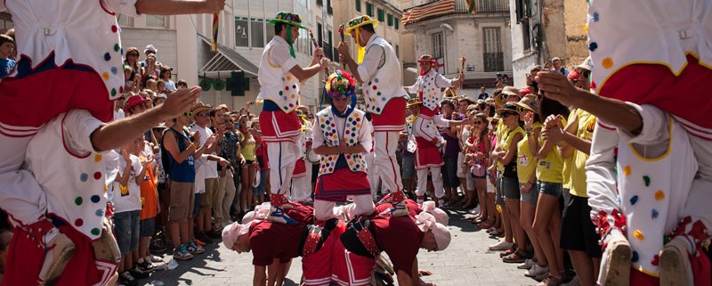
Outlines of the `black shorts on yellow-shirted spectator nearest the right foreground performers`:
[{"label": "black shorts on yellow-shirted spectator nearest the right foreground performers", "polygon": [[601,236],[595,232],[590,215],[588,198],[571,195],[571,200],[563,208],[560,246],[562,249],[585,251],[589,257],[600,258],[602,250],[598,240]]}]

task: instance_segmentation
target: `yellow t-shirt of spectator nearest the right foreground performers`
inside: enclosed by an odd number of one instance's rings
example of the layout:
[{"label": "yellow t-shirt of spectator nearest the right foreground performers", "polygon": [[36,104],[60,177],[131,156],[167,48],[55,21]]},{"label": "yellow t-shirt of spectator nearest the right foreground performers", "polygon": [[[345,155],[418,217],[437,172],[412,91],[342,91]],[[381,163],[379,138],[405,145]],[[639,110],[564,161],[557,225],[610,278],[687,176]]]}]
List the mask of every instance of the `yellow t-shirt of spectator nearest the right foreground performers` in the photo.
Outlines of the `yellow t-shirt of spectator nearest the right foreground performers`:
[{"label": "yellow t-shirt of spectator nearest the right foreground performers", "polygon": [[[578,111],[578,130],[576,136],[584,140],[594,137],[595,116],[585,110]],[[571,156],[571,191],[572,195],[587,198],[586,160],[588,154],[574,150]]]}]

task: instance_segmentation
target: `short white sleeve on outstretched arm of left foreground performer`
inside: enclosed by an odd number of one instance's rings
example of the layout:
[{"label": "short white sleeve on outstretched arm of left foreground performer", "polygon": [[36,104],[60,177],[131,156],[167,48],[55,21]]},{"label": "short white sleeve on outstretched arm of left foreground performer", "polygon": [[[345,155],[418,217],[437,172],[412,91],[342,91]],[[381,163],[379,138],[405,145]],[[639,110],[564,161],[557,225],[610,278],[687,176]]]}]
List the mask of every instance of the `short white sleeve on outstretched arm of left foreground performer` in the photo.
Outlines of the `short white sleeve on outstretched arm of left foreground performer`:
[{"label": "short white sleeve on outstretched arm of left foreground performer", "polygon": [[101,120],[94,118],[87,110],[69,110],[62,120],[62,133],[67,148],[76,154],[95,151],[91,135],[103,126]]}]

